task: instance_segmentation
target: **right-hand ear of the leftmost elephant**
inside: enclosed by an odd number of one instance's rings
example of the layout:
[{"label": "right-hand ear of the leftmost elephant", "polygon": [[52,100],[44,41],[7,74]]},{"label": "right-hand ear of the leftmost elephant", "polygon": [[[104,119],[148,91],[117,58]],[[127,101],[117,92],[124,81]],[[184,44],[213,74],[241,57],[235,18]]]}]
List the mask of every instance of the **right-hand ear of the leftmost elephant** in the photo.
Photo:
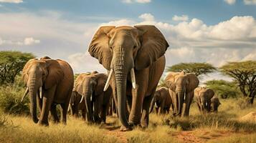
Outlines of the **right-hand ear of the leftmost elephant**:
[{"label": "right-hand ear of the leftmost elephant", "polygon": [[44,82],[44,89],[49,89],[50,87],[58,84],[64,77],[64,72],[59,62],[54,59],[45,59],[47,63],[48,74]]}]

